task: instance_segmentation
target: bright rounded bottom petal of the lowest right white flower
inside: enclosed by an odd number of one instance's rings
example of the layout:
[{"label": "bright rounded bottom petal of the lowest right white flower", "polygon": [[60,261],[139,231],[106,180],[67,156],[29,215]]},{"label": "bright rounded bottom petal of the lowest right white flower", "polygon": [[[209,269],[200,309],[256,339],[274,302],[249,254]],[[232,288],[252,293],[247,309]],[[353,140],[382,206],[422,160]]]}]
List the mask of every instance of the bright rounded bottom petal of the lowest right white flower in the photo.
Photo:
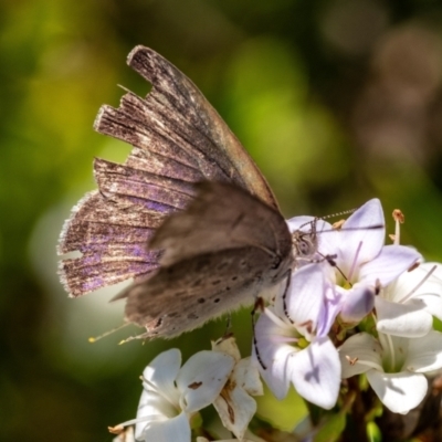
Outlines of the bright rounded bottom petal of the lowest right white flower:
[{"label": "bright rounded bottom petal of the lowest right white flower", "polygon": [[370,370],[367,379],[382,403],[393,413],[407,414],[419,406],[428,390],[425,377],[419,373]]}]

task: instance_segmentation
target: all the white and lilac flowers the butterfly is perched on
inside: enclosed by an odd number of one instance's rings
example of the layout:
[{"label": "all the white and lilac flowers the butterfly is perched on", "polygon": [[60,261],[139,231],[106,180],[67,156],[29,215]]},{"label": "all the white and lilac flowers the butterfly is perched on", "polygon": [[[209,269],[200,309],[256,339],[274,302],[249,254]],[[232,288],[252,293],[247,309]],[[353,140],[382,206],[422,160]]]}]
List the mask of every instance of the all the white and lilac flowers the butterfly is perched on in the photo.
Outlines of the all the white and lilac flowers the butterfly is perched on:
[{"label": "all the white and lilac flowers the butterfly is perched on", "polygon": [[[276,398],[294,386],[323,409],[336,406],[343,379],[365,373],[386,408],[408,413],[425,397],[425,373],[442,369],[442,265],[399,243],[400,212],[391,245],[378,200],[338,228],[299,217],[288,227],[312,235],[314,256],[298,259],[276,287],[254,327],[252,357],[241,359],[233,338],[200,351],[181,368],[178,349],[159,355],[143,373],[135,424],[138,441],[190,442],[191,422],[213,404],[223,425],[245,441],[262,394],[260,376]],[[296,248],[294,248],[296,249]],[[198,438],[206,441],[204,438]]]}]

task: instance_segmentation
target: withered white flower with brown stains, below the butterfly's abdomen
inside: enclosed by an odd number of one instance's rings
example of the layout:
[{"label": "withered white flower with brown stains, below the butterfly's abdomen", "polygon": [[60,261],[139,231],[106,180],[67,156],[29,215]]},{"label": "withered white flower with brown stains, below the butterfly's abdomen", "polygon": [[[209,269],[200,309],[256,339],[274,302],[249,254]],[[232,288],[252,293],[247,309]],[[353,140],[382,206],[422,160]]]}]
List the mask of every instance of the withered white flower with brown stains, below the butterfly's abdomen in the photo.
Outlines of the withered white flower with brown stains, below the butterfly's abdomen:
[{"label": "withered white flower with brown stains, below the butterfly's abdomen", "polygon": [[235,360],[233,371],[213,407],[223,425],[241,441],[256,412],[256,402],[251,396],[263,394],[260,373],[250,357],[241,359],[233,337],[213,343],[212,349],[228,354]]}]

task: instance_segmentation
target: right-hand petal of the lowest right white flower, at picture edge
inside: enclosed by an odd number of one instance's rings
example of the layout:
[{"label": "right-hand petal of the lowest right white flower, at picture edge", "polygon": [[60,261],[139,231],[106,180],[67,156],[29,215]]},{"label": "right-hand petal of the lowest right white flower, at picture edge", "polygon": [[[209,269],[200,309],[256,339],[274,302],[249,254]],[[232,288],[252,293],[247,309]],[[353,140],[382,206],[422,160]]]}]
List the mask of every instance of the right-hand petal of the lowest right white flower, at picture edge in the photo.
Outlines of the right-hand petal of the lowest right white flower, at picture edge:
[{"label": "right-hand petal of the lowest right white flower, at picture edge", "polygon": [[417,372],[442,368],[442,333],[432,330],[421,338],[410,339],[403,366]]}]

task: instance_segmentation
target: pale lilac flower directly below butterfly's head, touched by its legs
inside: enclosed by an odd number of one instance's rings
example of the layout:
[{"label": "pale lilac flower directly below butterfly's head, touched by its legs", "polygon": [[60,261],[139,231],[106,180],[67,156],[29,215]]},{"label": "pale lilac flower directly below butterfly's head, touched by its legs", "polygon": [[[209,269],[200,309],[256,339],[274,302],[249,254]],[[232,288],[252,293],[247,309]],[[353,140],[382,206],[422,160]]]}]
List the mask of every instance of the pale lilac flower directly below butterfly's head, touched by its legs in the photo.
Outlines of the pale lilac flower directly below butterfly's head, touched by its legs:
[{"label": "pale lilac flower directly below butterfly's head, touched by its legs", "polygon": [[296,271],[285,299],[267,307],[256,323],[253,354],[265,382],[282,399],[292,382],[306,400],[330,409],[340,383],[338,352],[327,337],[339,307],[323,266]]}]

